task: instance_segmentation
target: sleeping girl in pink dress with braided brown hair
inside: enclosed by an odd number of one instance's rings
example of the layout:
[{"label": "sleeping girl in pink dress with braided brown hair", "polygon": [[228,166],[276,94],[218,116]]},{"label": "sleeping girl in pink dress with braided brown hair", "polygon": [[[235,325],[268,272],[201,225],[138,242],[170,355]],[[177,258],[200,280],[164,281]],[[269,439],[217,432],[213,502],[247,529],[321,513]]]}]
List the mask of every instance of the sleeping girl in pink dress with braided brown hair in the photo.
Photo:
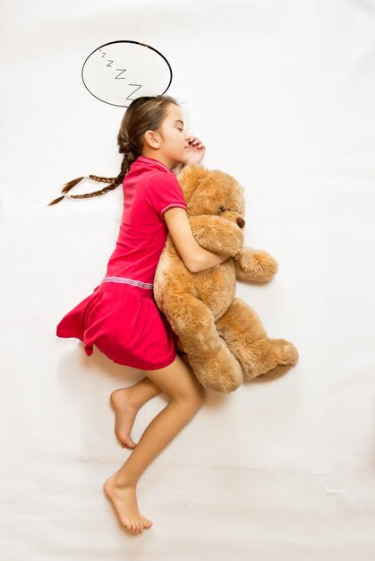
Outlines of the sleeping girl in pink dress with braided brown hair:
[{"label": "sleeping girl in pink dress with braided brown hair", "polygon": [[[203,387],[192,368],[176,354],[177,335],[153,295],[158,258],[168,232],[192,274],[223,263],[230,255],[207,251],[192,235],[187,205],[172,168],[200,163],[205,146],[185,133],[178,102],[164,95],[134,99],[124,114],[117,142],[124,154],[118,177],[89,176],[110,185],[93,193],[66,195],[81,181],[79,177],[62,190],[64,196],[85,198],[105,194],[122,183],[124,212],[106,276],[63,317],[56,334],[83,341],[87,355],[92,354],[95,343],[115,363],[141,369],[145,375],[138,384],[111,393],[115,434],[123,446],[132,448],[132,454],[104,484],[120,522],[139,533],[152,522],[138,510],[138,480],[204,400]],[[136,413],[160,392],[169,398],[166,408],[135,444],[131,430]]]}]

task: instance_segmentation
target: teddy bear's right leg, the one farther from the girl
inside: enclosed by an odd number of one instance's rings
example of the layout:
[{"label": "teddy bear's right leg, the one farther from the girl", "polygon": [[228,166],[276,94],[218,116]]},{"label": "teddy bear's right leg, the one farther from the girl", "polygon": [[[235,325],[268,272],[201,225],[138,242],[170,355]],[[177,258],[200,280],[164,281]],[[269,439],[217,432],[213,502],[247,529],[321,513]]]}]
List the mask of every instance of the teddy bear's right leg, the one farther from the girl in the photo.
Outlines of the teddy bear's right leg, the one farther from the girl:
[{"label": "teddy bear's right leg, the one farther from the girl", "polygon": [[217,320],[217,332],[241,364],[245,380],[266,374],[278,365],[294,366],[298,361],[294,344],[269,339],[259,315],[241,298],[234,298]]}]

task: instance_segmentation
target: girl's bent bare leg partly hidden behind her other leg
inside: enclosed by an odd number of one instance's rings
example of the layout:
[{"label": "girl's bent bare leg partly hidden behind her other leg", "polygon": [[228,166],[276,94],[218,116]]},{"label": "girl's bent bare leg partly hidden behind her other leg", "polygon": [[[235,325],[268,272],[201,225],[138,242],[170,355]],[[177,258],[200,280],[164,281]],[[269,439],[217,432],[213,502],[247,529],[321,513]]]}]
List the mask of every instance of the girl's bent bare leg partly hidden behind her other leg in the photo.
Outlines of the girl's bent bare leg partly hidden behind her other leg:
[{"label": "girl's bent bare leg partly hidden behind her other leg", "polygon": [[115,436],[122,444],[135,448],[131,431],[135,416],[141,406],[160,393],[160,388],[147,376],[128,388],[120,388],[111,393],[110,401],[115,410]]}]

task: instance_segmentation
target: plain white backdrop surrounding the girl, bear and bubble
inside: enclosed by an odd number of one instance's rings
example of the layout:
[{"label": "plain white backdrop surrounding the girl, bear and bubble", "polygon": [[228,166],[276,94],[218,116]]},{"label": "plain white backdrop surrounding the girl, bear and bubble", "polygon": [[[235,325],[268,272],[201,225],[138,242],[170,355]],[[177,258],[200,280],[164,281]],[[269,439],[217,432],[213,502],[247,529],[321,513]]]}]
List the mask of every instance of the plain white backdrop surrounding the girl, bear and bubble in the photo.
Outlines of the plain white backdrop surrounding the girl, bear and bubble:
[{"label": "plain white backdrop surrounding the girl, bear and bubble", "polygon": [[[2,557],[373,559],[375,2],[4,0],[1,20]],[[154,524],[137,536],[102,484],[130,453],[109,394],[141,373],[55,336],[106,272],[123,195],[47,207],[119,171],[124,109],[81,66],[120,39],[166,56],[202,163],[244,186],[245,244],[279,272],[237,295],[300,353],[276,380],[207,391],[140,479]],[[165,405],[140,410],[136,442]]]}]

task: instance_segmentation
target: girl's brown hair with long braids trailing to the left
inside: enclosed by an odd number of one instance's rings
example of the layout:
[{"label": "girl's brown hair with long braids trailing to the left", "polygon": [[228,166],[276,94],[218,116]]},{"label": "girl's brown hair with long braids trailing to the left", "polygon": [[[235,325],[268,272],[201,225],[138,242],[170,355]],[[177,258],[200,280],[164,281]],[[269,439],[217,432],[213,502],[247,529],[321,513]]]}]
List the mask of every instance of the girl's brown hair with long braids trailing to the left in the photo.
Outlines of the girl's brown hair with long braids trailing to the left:
[{"label": "girl's brown hair with long braids trailing to the left", "polygon": [[65,196],[69,196],[69,198],[72,199],[87,199],[88,197],[96,197],[100,194],[112,191],[122,184],[125,175],[128,173],[129,168],[132,165],[132,162],[141,156],[144,142],[143,135],[149,130],[158,131],[158,128],[166,117],[166,106],[169,103],[175,103],[175,105],[178,105],[175,98],[165,95],[142,96],[140,98],[133,99],[132,103],[125,111],[120,130],[117,134],[117,144],[119,147],[118,151],[120,154],[124,154],[124,159],[118,176],[101,177],[91,175],[89,176],[90,179],[100,181],[102,183],[109,183],[110,185],[103,187],[103,189],[100,189],[99,191],[93,191],[92,193],[66,195],[66,193],[68,193],[72,187],[80,183],[84,177],[72,179],[72,181],[66,183],[62,188],[61,191],[64,195],[58,197],[54,201],[51,201],[51,203],[47,206],[59,203]]}]

